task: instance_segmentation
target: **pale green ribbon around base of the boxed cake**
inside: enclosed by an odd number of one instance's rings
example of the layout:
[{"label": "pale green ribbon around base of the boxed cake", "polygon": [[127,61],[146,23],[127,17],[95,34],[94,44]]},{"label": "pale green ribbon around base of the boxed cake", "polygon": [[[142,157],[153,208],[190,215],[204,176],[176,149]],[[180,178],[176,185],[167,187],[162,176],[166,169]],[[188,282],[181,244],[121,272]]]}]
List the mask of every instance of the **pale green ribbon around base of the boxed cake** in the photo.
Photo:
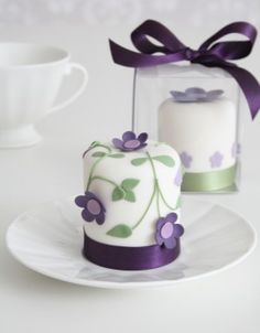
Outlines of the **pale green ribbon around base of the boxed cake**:
[{"label": "pale green ribbon around base of the boxed cake", "polygon": [[202,192],[217,191],[229,187],[236,179],[237,165],[210,171],[210,172],[186,172],[183,176],[182,191]]}]

